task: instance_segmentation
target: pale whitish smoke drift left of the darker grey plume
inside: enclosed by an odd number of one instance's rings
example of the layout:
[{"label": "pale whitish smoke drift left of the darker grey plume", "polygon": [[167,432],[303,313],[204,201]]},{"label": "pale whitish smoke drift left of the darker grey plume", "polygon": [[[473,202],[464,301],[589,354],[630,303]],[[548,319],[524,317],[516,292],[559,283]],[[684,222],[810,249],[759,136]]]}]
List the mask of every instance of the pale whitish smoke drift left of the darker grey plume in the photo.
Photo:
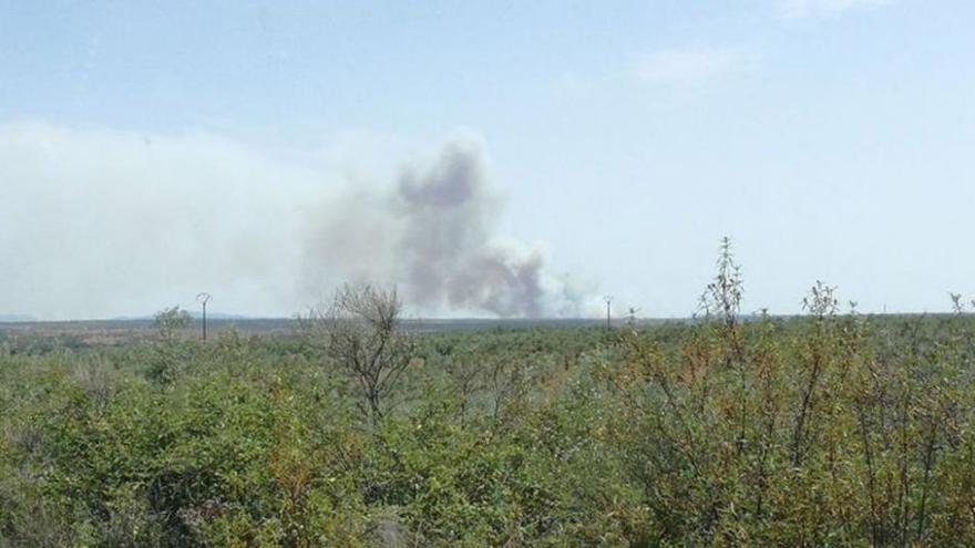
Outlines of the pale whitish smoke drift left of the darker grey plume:
[{"label": "pale whitish smoke drift left of the darker grey plume", "polygon": [[0,126],[0,314],[295,310],[309,169],[207,135]]}]

